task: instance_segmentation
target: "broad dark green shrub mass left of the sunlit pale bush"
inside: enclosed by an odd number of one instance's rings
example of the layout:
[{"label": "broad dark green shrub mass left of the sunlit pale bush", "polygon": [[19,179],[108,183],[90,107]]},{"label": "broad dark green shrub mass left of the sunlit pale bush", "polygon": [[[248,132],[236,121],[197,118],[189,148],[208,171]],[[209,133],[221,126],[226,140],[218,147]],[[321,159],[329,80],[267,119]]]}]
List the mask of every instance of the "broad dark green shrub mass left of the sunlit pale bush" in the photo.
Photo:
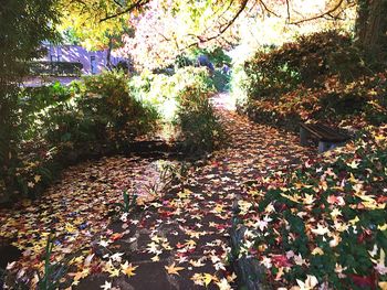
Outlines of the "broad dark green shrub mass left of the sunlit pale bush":
[{"label": "broad dark green shrub mass left of the sunlit pale bush", "polygon": [[[119,150],[153,131],[158,115],[129,94],[122,73],[85,77],[69,87],[54,84],[20,93],[18,159],[8,190],[36,196],[61,169],[84,154]],[[71,158],[70,158],[71,157]],[[0,182],[4,187],[4,182]]]}]

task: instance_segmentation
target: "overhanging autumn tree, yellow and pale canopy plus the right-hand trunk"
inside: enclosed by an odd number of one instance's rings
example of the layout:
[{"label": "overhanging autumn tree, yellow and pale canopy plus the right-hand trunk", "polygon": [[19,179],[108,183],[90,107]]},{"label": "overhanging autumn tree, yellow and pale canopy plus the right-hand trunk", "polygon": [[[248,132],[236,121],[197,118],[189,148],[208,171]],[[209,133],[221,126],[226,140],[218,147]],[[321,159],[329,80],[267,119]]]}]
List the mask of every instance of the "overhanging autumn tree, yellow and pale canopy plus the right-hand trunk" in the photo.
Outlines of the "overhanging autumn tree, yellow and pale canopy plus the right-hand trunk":
[{"label": "overhanging autumn tree, yellow and pale canopy plus the right-hand trunk", "polygon": [[[232,45],[240,39],[240,19],[283,19],[287,31],[315,23],[331,28],[333,22],[348,19],[348,9],[358,7],[356,35],[363,47],[372,51],[384,47],[386,37],[386,0],[226,0],[226,1],[171,1],[171,0],[61,0],[64,13],[63,26],[74,28],[87,49],[112,46],[111,35],[122,35],[125,26],[133,25],[137,35],[128,42],[128,49],[142,42],[163,51],[168,43],[172,51],[186,50],[205,43],[218,42]],[[148,21],[148,22],[147,22]],[[318,22],[321,21],[321,22]],[[322,21],[324,24],[321,24]],[[178,23],[177,23],[178,22]],[[156,24],[156,25],[155,25]],[[160,29],[164,29],[160,32]],[[241,26],[240,29],[249,29]],[[260,28],[263,30],[264,28]],[[146,31],[147,30],[147,31]],[[136,44],[134,45],[133,42]],[[159,43],[159,45],[154,45]],[[147,50],[144,51],[147,53]],[[160,54],[153,53],[157,57]],[[169,53],[170,54],[170,53]],[[178,53],[176,53],[178,54]],[[151,54],[150,54],[151,55]]]}]

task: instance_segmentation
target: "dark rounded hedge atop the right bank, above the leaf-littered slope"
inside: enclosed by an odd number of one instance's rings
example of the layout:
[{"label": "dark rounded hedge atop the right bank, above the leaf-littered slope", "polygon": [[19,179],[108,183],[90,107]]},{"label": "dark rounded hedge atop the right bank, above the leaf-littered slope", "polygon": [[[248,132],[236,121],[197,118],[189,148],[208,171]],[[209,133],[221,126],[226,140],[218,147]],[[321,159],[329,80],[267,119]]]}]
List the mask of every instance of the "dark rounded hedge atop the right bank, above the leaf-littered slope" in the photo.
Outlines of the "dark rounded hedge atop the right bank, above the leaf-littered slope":
[{"label": "dark rounded hedge atop the right bank, above the leaf-littered slope", "polygon": [[326,77],[353,80],[369,73],[348,35],[337,31],[300,36],[272,51],[259,51],[244,64],[251,99],[276,98],[297,88],[321,87]]}]

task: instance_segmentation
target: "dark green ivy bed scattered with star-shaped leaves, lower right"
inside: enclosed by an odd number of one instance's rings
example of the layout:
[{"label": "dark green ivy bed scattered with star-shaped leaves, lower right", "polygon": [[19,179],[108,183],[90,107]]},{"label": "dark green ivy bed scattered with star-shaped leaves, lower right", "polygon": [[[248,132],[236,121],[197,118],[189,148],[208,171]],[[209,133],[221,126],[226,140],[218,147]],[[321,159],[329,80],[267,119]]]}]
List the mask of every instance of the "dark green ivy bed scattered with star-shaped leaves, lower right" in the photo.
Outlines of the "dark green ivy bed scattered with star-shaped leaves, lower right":
[{"label": "dark green ivy bed scattered with star-shaped leaves, lower right", "polygon": [[249,184],[239,255],[281,289],[386,289],[386,129]]}]

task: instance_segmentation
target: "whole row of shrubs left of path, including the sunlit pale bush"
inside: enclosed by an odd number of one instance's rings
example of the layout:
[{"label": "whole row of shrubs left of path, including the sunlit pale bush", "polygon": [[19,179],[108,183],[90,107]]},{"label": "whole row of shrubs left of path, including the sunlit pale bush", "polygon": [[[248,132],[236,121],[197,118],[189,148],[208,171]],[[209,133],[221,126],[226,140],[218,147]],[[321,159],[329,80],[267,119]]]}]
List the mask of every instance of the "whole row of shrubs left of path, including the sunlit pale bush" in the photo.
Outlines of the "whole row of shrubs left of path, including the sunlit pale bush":
[{"label": "whole row of shrubs left of path, including the sunlit pale bush", "polygon": [[113,72],[70,86],[24,88],[17,98],[18,158],[9,168],[13,197],[35,196],[65,165],[125,151],[128,142],[160,129],[169,129],[169,138],[182,140],[190,153],[211,151],[221,137],[211,92],[206,68],[195,67],[172,76],[128,79]]}]

